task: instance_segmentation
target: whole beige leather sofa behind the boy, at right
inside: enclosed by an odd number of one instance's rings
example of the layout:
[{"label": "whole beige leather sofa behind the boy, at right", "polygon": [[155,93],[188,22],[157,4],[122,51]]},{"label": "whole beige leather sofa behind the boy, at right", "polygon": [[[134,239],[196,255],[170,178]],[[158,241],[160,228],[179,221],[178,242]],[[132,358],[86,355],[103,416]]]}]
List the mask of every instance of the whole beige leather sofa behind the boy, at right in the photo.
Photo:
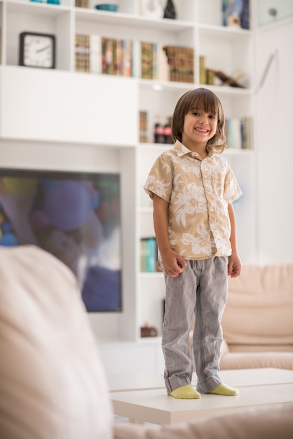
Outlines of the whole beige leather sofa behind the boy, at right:
[{"label": "whole beige leather sofa behind the boy, at right", "polygon": [[229,278],[222,327],[222,370],[293,370],[293,264],[247,265]]}]

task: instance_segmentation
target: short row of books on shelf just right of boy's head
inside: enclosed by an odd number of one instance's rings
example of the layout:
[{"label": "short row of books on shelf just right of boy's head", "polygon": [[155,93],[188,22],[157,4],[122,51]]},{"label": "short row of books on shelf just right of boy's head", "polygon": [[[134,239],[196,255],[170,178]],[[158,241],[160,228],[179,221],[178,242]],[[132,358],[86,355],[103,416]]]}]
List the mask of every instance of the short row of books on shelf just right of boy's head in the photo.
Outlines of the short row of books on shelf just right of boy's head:
[{"label": "short row of books on shelf just right of boy's head", "polygon": [[231,149],[252,149],[252,118],[227,118],[225,122],[226,143]]}]

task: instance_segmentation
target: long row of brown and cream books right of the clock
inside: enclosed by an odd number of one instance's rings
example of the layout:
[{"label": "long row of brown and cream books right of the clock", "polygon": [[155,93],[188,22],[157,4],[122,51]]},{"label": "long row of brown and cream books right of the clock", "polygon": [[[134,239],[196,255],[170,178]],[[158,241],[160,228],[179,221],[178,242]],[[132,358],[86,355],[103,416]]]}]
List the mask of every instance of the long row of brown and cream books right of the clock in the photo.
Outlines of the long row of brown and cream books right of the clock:
[{"label": "long row of brown and cream books right of the clock", "polygon": [[135,53],[141,57],[141,77],[162,81],[194,82],[193,49],[161,46],[144,41],[76,34],[76,72],[135,76]]}]

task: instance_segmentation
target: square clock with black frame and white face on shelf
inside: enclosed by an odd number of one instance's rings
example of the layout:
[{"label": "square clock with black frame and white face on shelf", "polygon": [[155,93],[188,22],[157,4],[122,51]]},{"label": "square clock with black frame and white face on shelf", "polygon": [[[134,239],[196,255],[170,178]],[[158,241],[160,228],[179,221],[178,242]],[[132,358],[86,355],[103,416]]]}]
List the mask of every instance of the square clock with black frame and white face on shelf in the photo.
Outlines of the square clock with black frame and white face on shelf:
[{"label": "square clock with black frame and white face on shelf", "polygon": [[20,65],[55,69],[55,35],[22,32],[20,34]]}]

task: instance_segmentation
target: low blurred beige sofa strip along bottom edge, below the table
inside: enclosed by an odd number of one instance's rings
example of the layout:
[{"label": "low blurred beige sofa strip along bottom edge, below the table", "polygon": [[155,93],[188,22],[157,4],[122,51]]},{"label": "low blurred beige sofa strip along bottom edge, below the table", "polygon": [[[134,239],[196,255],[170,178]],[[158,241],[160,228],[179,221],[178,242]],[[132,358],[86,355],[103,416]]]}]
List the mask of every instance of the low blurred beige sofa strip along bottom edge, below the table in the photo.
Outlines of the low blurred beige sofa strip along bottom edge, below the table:
[{"label": "low blurred beige sofa strip along bottom edge, below the table", "polygon": [[293,404],[228,410],[162,428],[115,425],[114,439],[292,439]]}]

